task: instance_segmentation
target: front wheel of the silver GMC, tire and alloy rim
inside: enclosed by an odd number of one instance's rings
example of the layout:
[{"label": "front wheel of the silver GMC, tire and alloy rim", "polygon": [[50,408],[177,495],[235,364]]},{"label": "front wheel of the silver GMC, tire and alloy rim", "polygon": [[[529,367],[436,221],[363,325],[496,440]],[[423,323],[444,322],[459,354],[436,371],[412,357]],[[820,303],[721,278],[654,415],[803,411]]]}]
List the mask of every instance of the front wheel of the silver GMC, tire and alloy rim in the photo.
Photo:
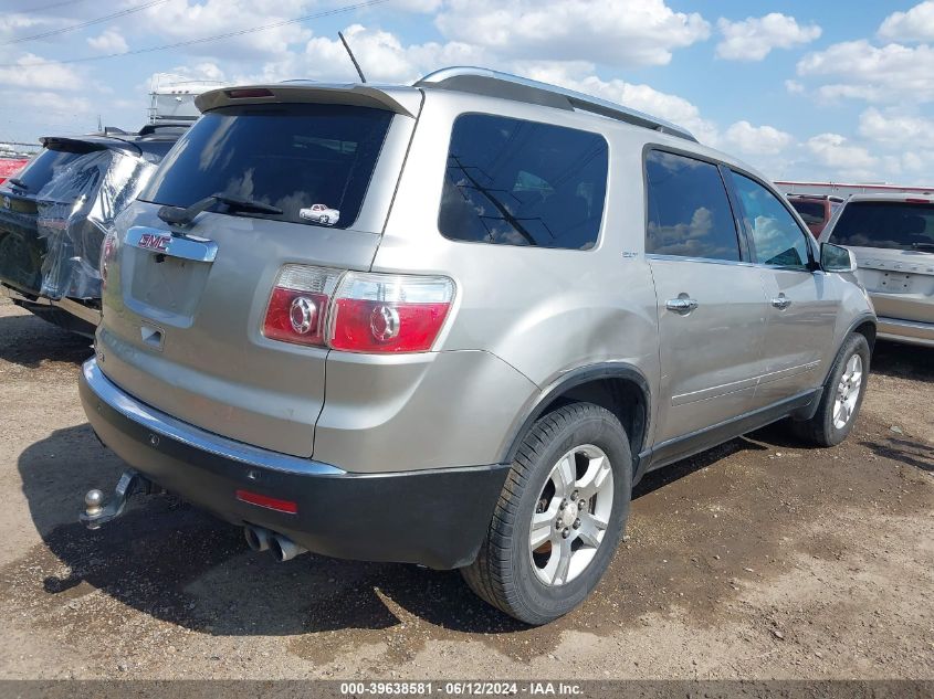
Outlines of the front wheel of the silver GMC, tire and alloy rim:
[{"label": "front wheel of the silver GMC, tire and alloy rim", "polygon": [[[867,339],[859,333],[847,338],[833,360],[817,412],[810,420],[793,421],[791,432],[816,446],[836,446],[846,439],[853,428],[865,395],[869,361]],[[858,385],[853,385],[852,379],[854,364],[859,364],[860,370]],[[840,412],[841,406],[846,409],[843,412]]]}]

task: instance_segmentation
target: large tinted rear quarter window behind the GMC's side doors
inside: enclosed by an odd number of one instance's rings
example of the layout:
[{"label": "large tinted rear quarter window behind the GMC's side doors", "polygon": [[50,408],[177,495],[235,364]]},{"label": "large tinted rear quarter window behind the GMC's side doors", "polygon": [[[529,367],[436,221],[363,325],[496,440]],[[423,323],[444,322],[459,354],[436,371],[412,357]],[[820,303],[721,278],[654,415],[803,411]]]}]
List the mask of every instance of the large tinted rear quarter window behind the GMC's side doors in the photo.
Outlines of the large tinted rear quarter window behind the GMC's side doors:
[{"label": "large tinted rear quarter window behind the GMC's side doors", "polygon": [[456,241],[587,250],[607,191],[607,142],[576,129],[458,117],[438,226]]}]

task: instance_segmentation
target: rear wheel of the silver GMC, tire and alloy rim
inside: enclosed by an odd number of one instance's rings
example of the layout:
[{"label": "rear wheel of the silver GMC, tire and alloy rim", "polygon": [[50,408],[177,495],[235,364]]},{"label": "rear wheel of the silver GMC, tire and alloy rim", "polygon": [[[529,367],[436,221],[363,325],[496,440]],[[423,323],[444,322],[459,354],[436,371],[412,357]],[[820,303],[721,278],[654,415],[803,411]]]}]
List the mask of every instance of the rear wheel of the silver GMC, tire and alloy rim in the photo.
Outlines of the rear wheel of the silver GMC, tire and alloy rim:
[{"label": "rear wheel of the silver GMC, tire and alloy rim", "polygon": [[[461,569],[464,580],[481,599],[526,624],[567,614],[609,566],[631,491],[629,439],[612,413],[571,403],[544,415],[522,441],[478,558]],[[579,499],[562,497],[568,493]],[[533,517],[536,541],[548,522],[548,540],[535,552]],[[601,537],[598,522],[606,526]]]}]

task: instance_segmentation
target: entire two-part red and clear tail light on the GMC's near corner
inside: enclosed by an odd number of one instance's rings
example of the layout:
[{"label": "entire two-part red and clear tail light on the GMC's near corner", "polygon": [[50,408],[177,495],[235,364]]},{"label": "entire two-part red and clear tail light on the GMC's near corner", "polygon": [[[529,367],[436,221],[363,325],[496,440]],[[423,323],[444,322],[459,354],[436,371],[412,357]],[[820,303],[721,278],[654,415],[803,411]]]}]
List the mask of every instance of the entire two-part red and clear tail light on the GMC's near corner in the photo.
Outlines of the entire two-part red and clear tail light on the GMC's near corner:
[{"label": "entire two-part red and clear tail light on the GMC's near corner", "polygon": [[438,339],[453,297],[447,277],[286,265],[263,335],[348,352],[423,352]]}]

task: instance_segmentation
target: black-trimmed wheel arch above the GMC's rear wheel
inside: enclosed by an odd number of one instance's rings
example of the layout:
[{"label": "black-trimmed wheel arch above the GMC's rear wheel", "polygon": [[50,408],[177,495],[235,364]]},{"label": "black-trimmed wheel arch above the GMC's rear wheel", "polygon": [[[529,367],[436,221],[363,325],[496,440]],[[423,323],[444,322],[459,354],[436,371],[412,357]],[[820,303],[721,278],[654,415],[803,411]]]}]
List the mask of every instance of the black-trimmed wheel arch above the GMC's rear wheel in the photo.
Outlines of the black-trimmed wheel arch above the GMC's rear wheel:
[{"label": "black-trimmed wheel arch above the GMC's rear wheel", "polygon": [[642,372],[631,364],[622,363],[583,367],[562,375],[542,391],[507,438],[500,463],[513,462],[523,436],[539,417],[578,401],[606,407],[619,419],[629,437],[636,469],[649,434],[651,392]]}]

